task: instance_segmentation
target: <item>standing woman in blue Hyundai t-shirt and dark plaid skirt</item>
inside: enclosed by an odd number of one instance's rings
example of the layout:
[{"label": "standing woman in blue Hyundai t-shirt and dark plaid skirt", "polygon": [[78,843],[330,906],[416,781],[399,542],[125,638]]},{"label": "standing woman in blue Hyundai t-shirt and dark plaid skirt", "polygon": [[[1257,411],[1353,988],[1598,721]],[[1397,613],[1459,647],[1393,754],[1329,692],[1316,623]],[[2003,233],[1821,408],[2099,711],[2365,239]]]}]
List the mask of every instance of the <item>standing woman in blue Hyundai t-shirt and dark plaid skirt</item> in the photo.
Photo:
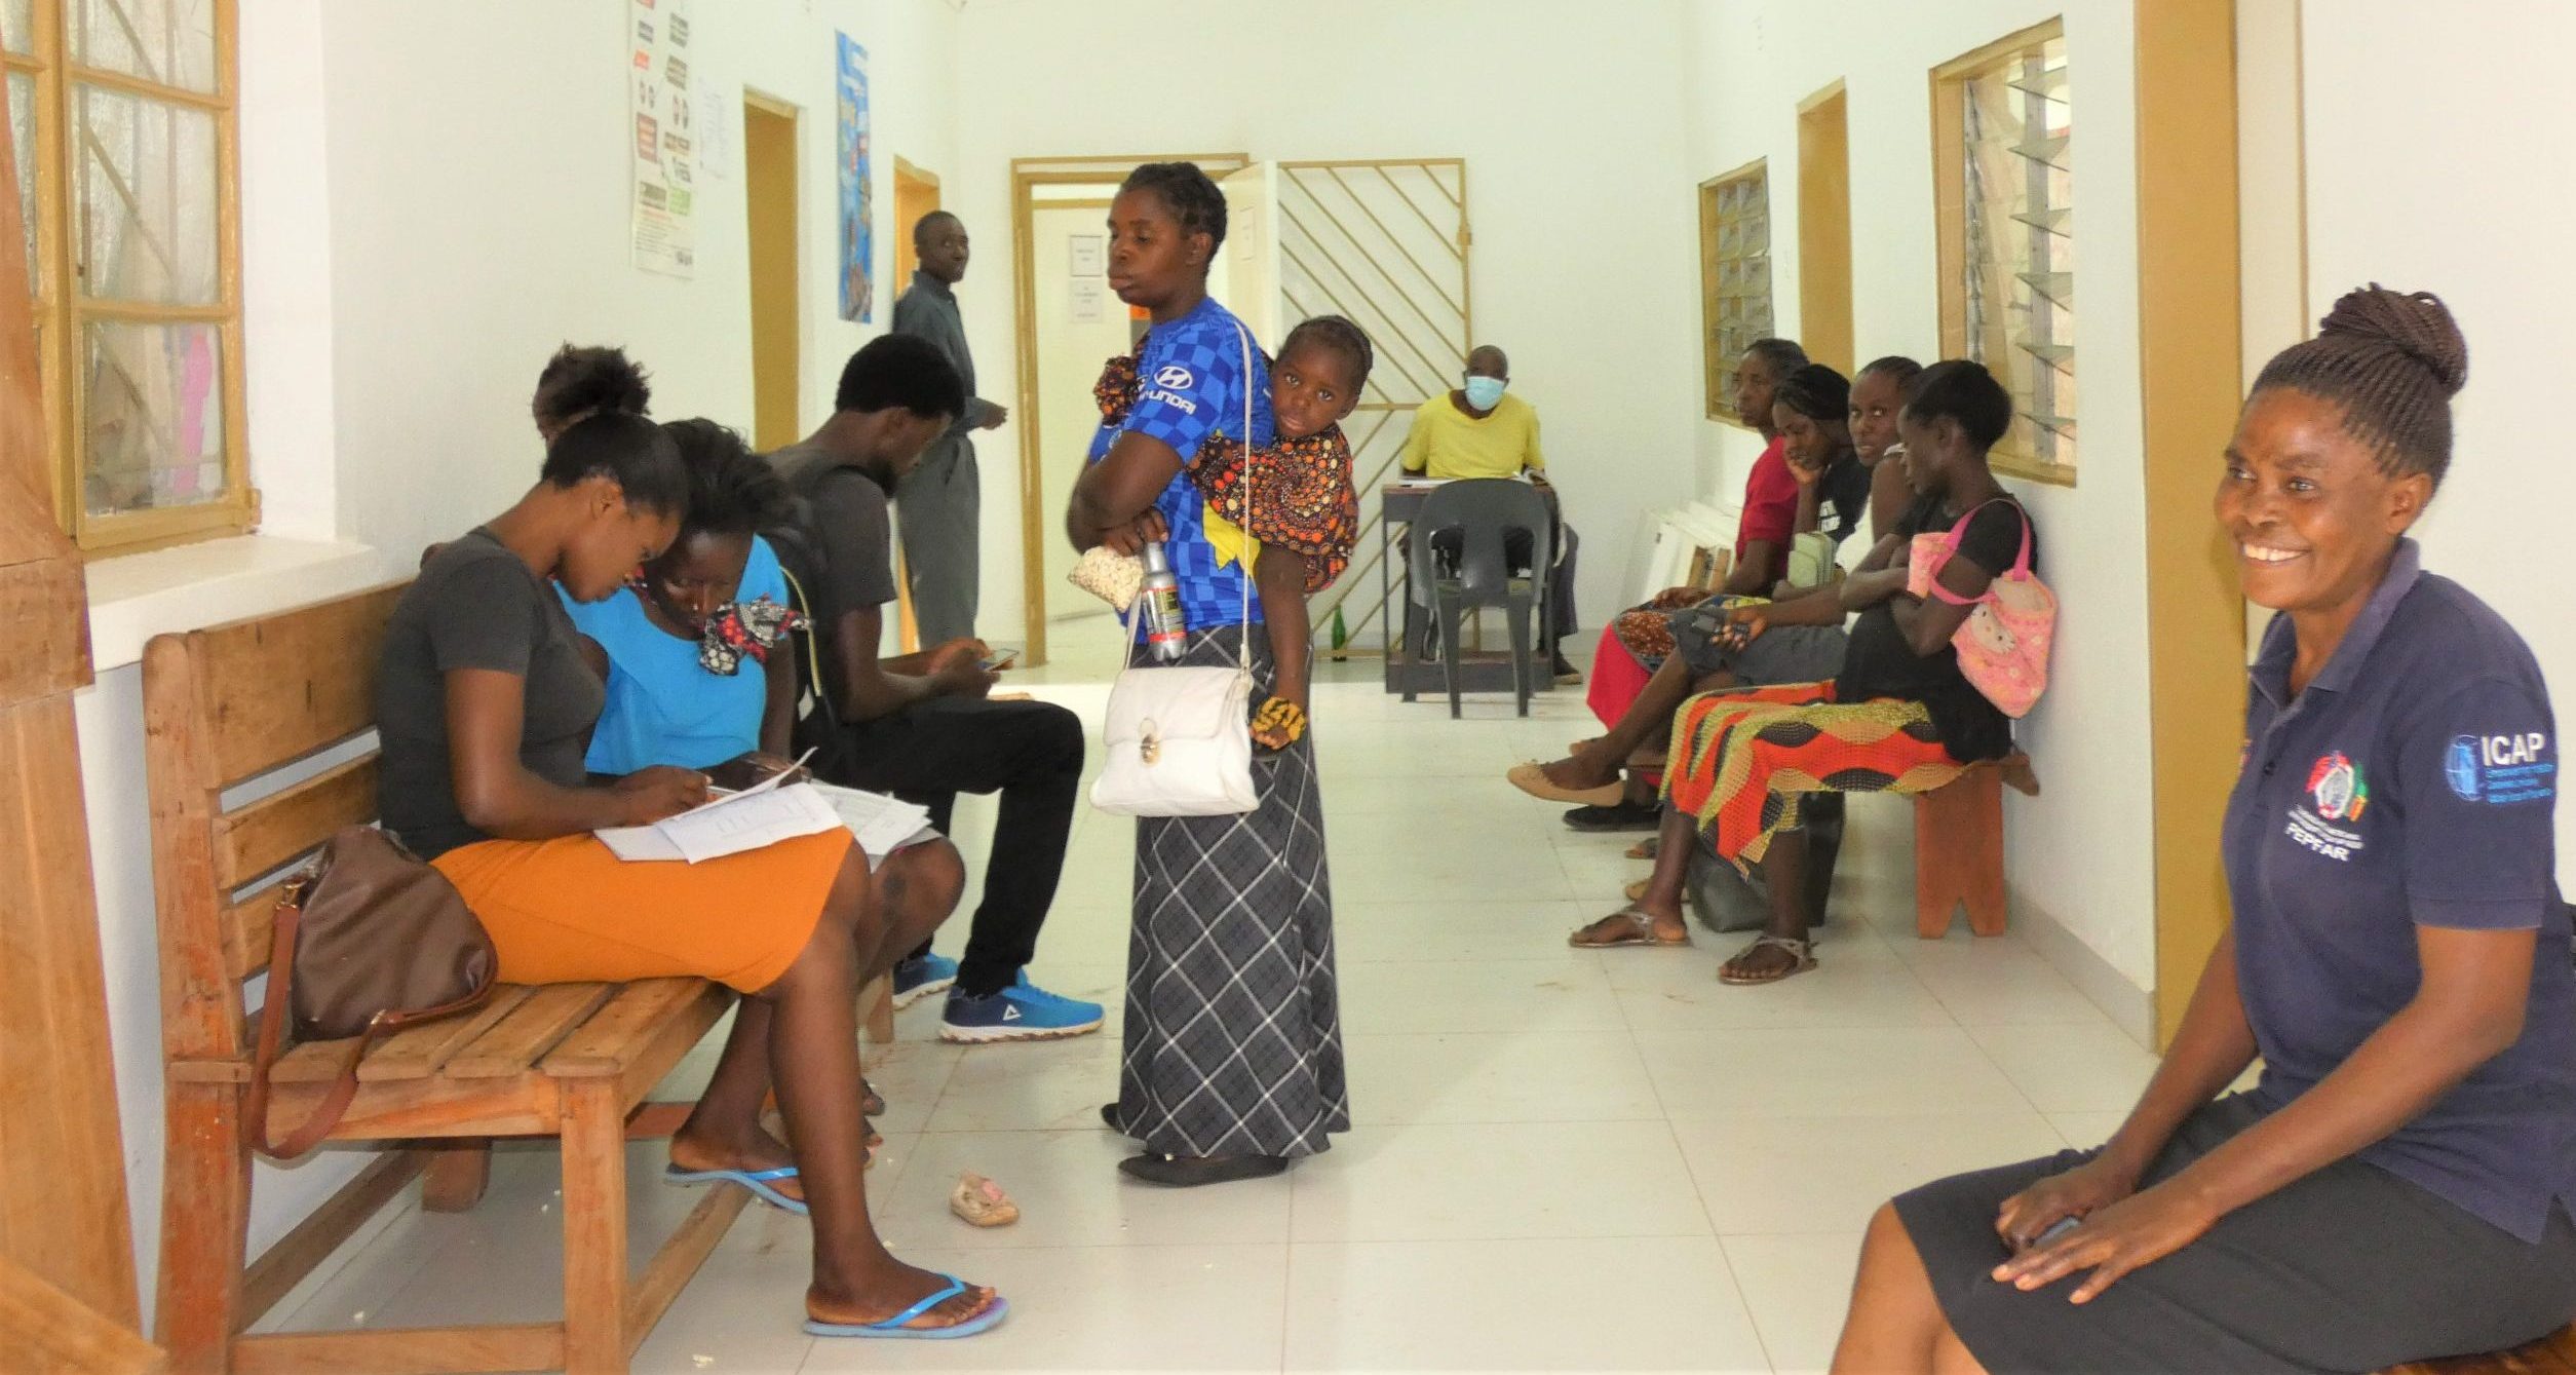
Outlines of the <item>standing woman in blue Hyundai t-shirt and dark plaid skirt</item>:
[{"label": "standing woman in blue Hyundai t-shirt and dark plaid skirt", "polygon": [[[1154,317],[1136,404],[1092,440],[1064,528],[1074,548],[1159,538],[1180,577],[1185,664],[1249,654],[1252,700],[1278,677],[1255,633],[1249,538],[1182,471],[1208,435],[1273,440],[1260,345],[1208,299],[1226,196],[1190,162],[1149,162],[1110,203],[1110,288]],[[1249,641],[1249,644],[1247,644]],[[1131,662],[1144,644],[1131,644]],[[1146,1146],[1118,1169],[1154,1184],[1216,1184],[1288,1169],[1350,1130],[1332,971],[1332,886],[1314,736],[1252,762],[1242,816],[1136,821],[1136,932],[1126,1056],[1103,1120]]]}]

